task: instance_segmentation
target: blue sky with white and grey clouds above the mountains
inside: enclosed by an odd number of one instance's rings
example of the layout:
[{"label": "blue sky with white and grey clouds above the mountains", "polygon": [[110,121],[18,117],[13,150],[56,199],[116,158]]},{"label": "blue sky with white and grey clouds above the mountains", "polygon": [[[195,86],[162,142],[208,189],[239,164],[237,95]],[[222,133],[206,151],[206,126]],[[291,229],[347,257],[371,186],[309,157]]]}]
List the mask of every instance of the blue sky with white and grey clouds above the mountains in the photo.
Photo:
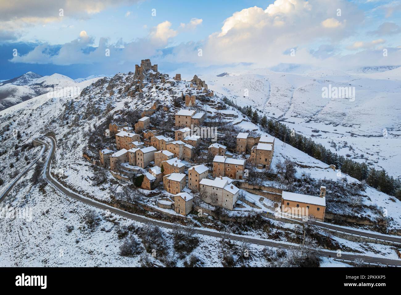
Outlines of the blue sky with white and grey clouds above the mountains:
[{"label": "blue sky with white and grey clouds above the mountains", "polygon": [[399,65],[400,16],[398,0],[17,0],[0,3],[0,79],[112,75],[145,58],[167,73]]}]

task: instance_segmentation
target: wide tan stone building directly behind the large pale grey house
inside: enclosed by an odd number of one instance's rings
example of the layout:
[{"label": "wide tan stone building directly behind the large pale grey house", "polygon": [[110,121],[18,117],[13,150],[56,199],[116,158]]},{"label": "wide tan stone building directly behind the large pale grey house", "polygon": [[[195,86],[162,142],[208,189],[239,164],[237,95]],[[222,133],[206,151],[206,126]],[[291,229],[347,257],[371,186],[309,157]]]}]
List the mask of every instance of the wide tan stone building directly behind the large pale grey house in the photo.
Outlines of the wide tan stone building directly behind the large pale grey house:
[{"label": "wide tan stone building directly behind the large pale grey house", "polygon": [[245,160],[215,156],[213,159],[213,177],[227,176],[232,179],[243,179]]}]

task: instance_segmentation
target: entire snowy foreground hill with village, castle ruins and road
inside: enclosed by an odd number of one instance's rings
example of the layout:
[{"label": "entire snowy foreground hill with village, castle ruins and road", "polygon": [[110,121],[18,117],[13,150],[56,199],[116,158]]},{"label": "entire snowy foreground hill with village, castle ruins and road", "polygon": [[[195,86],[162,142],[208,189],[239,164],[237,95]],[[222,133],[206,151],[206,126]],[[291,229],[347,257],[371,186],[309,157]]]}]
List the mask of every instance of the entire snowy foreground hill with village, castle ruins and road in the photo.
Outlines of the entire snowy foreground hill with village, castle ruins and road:
[{"label": "entire snowy foreground hill with village, castle ruins and road", "polygon": [[401,265],[397,179],[201,76],[144,59],[0,127],[2,265]]}]

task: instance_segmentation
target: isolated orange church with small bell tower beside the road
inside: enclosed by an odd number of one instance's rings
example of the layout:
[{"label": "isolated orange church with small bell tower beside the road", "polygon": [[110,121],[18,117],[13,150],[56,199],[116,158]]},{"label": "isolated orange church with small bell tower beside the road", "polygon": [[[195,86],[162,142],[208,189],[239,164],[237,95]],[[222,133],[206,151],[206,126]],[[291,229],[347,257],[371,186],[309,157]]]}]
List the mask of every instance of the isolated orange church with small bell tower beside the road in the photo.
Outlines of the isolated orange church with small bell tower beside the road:
[{"label": "isolated orange church with small bell tower beside the road", "polygon": [[281,212],[295,217],[312,215],[314,218],[324,221],[326,213],[326,187],[320,187],[319,197],[283,191]]}]

